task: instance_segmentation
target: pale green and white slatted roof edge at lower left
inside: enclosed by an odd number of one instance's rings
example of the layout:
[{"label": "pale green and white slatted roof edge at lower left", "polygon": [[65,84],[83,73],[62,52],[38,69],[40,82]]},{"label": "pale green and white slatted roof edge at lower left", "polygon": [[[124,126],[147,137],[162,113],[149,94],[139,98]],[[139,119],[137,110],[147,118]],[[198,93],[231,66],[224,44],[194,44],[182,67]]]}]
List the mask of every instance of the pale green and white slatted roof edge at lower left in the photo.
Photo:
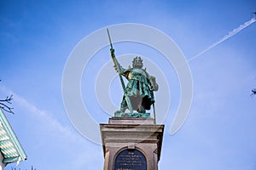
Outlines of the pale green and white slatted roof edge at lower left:
[{"label": "pale green and white slatted roof edge at lower left", "polygon": [[26,153],[22,149],[15,132],[10,126],[6,116],[0,109],[0,151],[3,155],[3,163],[26,160]]}]

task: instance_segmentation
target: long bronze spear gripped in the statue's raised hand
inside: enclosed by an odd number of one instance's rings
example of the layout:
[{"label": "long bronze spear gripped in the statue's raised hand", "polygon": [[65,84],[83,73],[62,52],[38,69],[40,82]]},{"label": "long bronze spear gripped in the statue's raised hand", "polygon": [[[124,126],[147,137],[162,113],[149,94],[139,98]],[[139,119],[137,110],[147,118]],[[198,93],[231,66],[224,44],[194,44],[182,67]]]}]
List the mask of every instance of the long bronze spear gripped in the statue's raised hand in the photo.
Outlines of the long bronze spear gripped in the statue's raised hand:
[{"label": "long bronze spear gripped in the statue's raised hand", "polygon": [[[107,31],[108,31],[108,28],[107,28]],[[120,81],[121,81],[121,84],[122,84],[122,88],[124,90],[125,101],[127,103],[129,111],[132,114],[133,109],[132,109],[132,106],[131,106],[131,100],[130,100],[129,96],[127,95],[127,91],[126,91],[126,88],[125,88],[125,82],[124,82],[123,77],[121,75],[121,68],[120,68],[119,62],[117,61],[117,59],[115,58],[115,55],[114,55],[114,49],[113,49],[113,45],[112,45],[111,38],[110,38],[110,35],[109,35],[109,31],[108,31],[108,39],[109,39],[109,42],[110,42],[110,54],[111,54],[111,58],[113,60],[113,65],[116,66],[117,71],[119,73],[119,78],[120,78]]]}]

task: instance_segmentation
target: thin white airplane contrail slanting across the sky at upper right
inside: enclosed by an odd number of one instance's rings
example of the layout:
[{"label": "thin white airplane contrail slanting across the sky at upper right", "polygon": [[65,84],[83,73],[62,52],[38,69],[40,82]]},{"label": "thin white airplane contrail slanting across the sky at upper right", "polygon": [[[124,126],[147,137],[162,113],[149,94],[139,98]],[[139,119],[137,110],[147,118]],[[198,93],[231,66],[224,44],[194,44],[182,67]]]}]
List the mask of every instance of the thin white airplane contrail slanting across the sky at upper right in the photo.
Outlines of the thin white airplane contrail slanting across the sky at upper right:
[{"label": "thin white airplane contrail slanting across the sky at upper right", "polygon": [[224,42],[226,39],[234,36],[236,33],[238,33],[239,31],[243,30],[244,28],[246,28],[247,26],[250,26],[251,24],[253,24],[253,22],[256,21],[256,18],[253,18],[252,20],[247,21],[246,23],[244,23],[243,25],[239,26],[238,28],[234,29],[233,31],[230,31],[226,36],[224,36],[222,39],[218,40],[218,42],[214,42],[212,43],[211,46],[209,46],[208,48],[206,48],[205,50],[203,50],[200,54],[195,55],[194,57],[192,57],[191,59],[188,59],[188,62],[196,59],[197,57],[199,57],[201,54],[206,53],[209,49],[214,48],[215,46],[217,46],[220,42]]}]

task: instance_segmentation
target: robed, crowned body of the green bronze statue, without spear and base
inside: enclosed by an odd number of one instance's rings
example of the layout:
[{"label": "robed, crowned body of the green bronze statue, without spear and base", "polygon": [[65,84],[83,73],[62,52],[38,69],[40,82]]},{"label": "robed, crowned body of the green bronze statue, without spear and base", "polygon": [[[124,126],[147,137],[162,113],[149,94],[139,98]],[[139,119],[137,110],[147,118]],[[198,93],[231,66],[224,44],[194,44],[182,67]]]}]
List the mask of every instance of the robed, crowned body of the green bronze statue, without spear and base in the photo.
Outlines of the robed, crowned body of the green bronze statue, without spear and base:
[{"label": "robed, crowned body of the green bronze statue, without spear and base", "polygon": [[[117,67],[114,67],[117,70]],[[132,110],[141,113],[141,115],[146,113],[146,110],[150,110],[150,106],[154,104],[153,91],[158,90],[155,77],[149,76],[146,69],[143,69],[143,59],[141,57],[133,59],[132,68],[124,69],[120,66],[120,70],[120,74],[129,81],[125,91],[131,101]],[[129,108],[124,95],[120,113],[125,113],[126,109]]]}]

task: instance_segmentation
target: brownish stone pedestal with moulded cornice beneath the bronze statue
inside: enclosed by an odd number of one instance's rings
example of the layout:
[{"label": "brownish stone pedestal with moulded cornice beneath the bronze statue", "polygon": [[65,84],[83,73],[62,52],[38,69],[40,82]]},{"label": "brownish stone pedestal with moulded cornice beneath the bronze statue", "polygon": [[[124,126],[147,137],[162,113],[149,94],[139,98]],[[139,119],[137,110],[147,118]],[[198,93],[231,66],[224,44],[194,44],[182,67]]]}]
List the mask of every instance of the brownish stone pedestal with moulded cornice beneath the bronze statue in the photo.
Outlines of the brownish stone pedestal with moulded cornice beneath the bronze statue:
[{"label": "brownish stone pedestal with moulded cornice beneath the bronze statue", "polygon": [[152,118],[112,117],[100,124],[104,170],[157,170],[164,125]]}]

